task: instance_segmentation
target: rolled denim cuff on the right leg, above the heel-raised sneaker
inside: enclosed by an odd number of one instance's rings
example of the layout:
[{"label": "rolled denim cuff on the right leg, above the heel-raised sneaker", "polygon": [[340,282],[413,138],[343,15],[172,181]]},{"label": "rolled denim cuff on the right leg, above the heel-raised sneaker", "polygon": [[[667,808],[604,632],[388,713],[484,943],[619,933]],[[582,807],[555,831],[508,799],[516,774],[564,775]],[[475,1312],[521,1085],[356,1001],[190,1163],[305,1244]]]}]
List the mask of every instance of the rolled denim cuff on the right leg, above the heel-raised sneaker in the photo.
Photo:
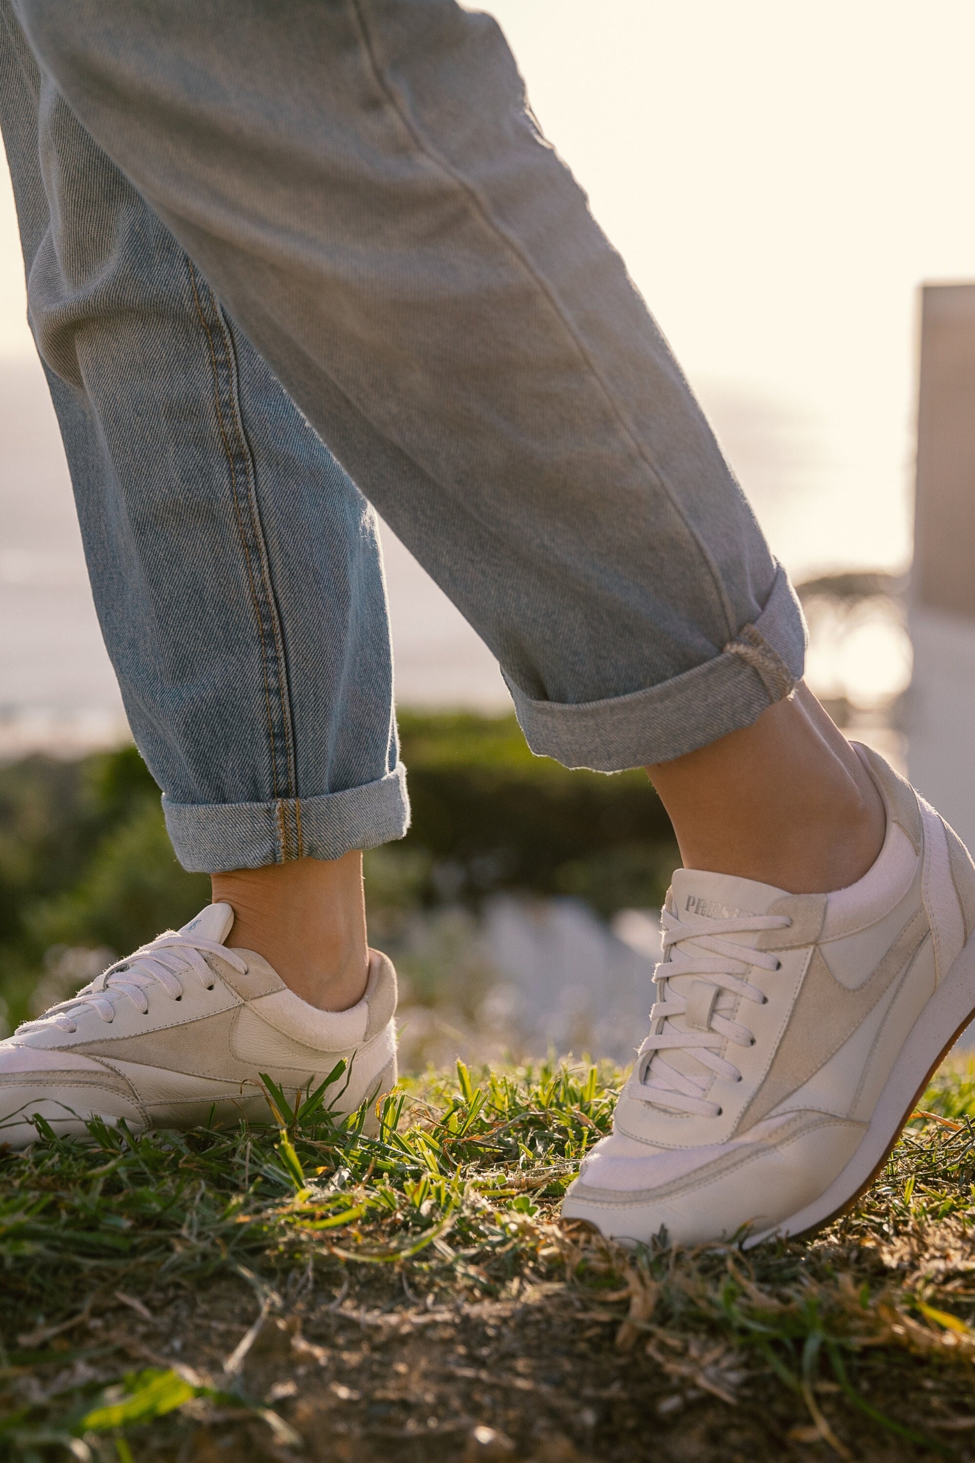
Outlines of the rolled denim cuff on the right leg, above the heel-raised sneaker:
[{"label": "rolled denim cuff on the right leg, above the heel-raised sneaker", "polygon": [[659,686],[566,705],[532,701],[506,676],[528,745],[539,756],[595,772],[669,762],[751,726],[795,686],[805,620],[779,566],[767,603],[712,660]]}]

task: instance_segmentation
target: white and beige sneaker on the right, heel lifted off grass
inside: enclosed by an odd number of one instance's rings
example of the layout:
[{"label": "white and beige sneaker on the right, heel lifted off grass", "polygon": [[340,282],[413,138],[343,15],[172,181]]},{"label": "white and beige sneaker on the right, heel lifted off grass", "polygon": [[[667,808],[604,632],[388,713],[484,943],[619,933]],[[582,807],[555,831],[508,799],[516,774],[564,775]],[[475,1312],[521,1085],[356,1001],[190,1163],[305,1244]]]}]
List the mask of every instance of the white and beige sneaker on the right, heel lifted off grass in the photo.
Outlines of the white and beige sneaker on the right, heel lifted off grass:
[{"label": "white and beige sneaker on the right, heel lifted off grass", "polygon": [[621,1242],[801,1235],[877,1173],[975,1012],[975,865],[883,758],[874,866],[835,894],[678,869],[650,1034],[563,1204]]}]

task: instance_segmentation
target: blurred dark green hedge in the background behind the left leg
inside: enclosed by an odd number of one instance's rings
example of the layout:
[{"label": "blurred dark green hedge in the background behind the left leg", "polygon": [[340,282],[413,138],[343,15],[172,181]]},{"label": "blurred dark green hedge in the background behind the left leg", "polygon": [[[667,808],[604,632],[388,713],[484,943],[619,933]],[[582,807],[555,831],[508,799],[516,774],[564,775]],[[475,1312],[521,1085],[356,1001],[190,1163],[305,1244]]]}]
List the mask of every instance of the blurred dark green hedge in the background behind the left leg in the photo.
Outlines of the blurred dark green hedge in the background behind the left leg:
[{"label": "blurred dark green hedge in the background behind the left leg", "polygon": [[[401,714],[412,825],[367,857],[374,907],[573,894],[610,914],[659,903],[677,851],[642,771],[602,777],[534,756],[515,717]],[[56,945],[124,952],[209,898],[170,849],[133,746],[0,768],[0,980]]]}]

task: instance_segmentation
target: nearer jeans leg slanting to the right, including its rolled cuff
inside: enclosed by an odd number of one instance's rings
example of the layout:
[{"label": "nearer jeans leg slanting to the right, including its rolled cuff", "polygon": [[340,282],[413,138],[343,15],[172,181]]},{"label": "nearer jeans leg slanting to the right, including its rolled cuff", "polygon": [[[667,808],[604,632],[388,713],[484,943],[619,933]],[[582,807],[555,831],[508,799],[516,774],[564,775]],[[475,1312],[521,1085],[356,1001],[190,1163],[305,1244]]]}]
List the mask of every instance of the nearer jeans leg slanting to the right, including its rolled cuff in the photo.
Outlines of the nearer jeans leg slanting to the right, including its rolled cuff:
[{"label": "nearer jeans leg slanting to the right, including its rolled cuff", "polygon": [[788,581],[491,18],[453,0],[18,12],[497,654],[536,752],[668,761],[791,691]]}]

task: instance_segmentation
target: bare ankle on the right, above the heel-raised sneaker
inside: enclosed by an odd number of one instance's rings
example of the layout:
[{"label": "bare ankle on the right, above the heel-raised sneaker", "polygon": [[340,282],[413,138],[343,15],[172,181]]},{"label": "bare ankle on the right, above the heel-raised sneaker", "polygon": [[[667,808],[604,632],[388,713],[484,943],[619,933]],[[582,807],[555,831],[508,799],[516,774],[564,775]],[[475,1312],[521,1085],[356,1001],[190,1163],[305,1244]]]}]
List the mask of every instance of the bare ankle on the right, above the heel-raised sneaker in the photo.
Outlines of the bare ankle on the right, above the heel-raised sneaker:
[{"label": "bare ankle on the right, above the heel-raised sneaker", "polygon": [[880,793],[804,686],[753,726],[648,774],[686,868],[814,894],[855,884],[883,846]]}]

